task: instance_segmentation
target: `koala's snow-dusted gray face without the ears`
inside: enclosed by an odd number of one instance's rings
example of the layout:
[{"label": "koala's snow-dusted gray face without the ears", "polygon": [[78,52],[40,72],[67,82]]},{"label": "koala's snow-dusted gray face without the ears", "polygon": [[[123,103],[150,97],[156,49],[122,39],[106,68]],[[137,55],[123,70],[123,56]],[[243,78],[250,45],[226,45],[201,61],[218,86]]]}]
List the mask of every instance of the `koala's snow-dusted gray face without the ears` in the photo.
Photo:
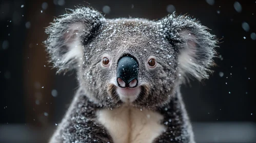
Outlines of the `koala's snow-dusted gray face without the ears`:
[{"label": "koala's snow-dusted gray face without the ears", "polygon": [[144,19],[106,20],[84,45],[82,86],[106,104],[167,102],[177,82],[178,61],[160,30],[159,24]]}]

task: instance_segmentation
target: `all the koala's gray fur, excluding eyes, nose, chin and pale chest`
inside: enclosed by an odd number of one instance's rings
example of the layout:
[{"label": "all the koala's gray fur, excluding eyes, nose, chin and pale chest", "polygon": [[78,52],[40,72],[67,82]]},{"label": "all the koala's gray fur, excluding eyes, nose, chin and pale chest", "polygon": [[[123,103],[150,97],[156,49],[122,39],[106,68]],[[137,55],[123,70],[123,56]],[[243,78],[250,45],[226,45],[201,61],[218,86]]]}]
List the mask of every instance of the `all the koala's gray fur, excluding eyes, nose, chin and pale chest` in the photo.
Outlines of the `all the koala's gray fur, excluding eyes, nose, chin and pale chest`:
[{"label": "all the koala's gray fur, excluding eyes, nose, chin and pale chest", "polygon": [[[58,127],[52,142],[91,142],[88,133],[99,133],[104,129],[97,125],[93,115],[87,116],[81,106],[100,108],[118,108],[123,102],[117,96],[116,66],[117,60],[124,54],[134,56],[139,62],[139,84],[142,92],[133,105],[135,108],[151,109],[164,115],[163,124],[167,131],[155,142],[193,142],[193,133],[179,85],[191,75],[198,80],[207,79],[211,73],[216,40],[208,29],[188,16],[171,14],[159,21],[142,18],[105,19],[99,12],[90,8],[77,8],[64,14],[46,29],[49,38],[44,42],[50,56],[50,62],[58,68],[58,73],[76,69],[80,90],[77,92],[69,111]],[[77,34],[76,34],[77,33]],[[83,56],[73,55],[73,42],[82,47]],[[179,57],[189,53],[190,61],[179,63]],[[111,57],[111,66],[101,66],[102,56]],[[69,55],[69,56],[67,56]],[[147,69],[145,62],[149,56],[157,61],[155,69]],[[68,58],[67,58],[68,57]],[[177,96],[179,95],[179,96]],[[165,109],[168,109],[166,111]],[[93,111],[95,113],[95,111]],[[87,128],[85,115],[94,121],[94,130]],[[175,121],[177,120],[177,121]],[[83,124],[81,128],[74,128]],[[71,133],[72,130],[72,133]],[[77,132],[80,132],[79,134]],[[94,136],[96,142],[111,142],[107,131]],[[83,139],[82,139],[83,138]],[[106,139],[107,138],[107,139]],[[54,140],[54,141],[53,141]],[[172,142],[172,141],[171,141]]]}]

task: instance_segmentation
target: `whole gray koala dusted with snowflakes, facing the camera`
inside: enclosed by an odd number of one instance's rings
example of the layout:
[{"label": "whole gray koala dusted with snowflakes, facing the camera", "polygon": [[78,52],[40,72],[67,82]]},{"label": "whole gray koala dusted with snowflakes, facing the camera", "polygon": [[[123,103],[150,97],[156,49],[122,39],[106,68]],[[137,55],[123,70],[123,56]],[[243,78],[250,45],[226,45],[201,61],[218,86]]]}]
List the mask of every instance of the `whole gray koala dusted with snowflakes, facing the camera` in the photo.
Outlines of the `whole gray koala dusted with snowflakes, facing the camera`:
[{"label": "whole gray koala dusted with snowflakes, facing the camera", "polygon": [[208,28],[175,13],[152,21],[68,11],[44,44],[57,73],[76,71],[79,88],[50,142],[195,142],[180,86],[212,73]]}]

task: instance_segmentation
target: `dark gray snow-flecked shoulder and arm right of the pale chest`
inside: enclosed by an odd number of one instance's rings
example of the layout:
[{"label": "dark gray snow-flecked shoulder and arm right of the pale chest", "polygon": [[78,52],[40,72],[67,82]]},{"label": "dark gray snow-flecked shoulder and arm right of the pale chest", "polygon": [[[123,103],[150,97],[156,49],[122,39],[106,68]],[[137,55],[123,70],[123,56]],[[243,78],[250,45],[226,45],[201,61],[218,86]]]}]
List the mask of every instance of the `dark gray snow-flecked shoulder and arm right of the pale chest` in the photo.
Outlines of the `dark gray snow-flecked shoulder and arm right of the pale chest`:
[{"label": "dark gray snow-flecked shoulder and arm right of the pale chest", "polygon": [[171,101],[158,109],[164,115],[163,124],[166,131],[155,142],[189,142],[194,143],[194,134],[183,103],[180,87]]}]

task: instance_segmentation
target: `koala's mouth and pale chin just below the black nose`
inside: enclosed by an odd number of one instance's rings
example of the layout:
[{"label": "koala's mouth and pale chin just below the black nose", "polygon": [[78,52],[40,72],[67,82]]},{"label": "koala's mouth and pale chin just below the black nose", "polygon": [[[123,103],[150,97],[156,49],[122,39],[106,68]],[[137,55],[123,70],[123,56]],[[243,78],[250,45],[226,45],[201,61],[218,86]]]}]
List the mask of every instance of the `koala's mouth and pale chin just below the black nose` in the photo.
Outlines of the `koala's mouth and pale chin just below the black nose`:
[{"label": "koala's mouth and pale chin just below the black nose", "polygon": [[123,103],[137,104],[148,97],[149,86],[140,85],[135,88],[121,88],[114,84],[110,84],[108,93],[115,102],[121,100]]}]

